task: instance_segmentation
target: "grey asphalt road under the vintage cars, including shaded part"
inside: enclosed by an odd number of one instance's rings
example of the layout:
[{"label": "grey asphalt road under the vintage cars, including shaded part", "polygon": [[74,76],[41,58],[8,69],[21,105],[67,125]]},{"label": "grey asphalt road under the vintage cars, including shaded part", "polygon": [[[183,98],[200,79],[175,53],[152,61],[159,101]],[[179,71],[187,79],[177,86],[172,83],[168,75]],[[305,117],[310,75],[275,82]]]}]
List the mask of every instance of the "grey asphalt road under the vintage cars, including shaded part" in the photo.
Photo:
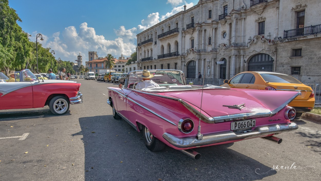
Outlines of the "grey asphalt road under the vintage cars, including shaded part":
[{"label": "grey asphalt road under the vintage cars, including shaded part", "polygon": [[71,105],[63,116],[48,107],[0,110],[1,181],[321,178],[321,122],[294,120],[299,129],[278,135],[279,145],[256,138],[197,148],[202,156],[193,160],[169,147],[149,151],[141,133],[113,119],[107,87],[117,84],[76,81],[82,83],[84,102]]}]

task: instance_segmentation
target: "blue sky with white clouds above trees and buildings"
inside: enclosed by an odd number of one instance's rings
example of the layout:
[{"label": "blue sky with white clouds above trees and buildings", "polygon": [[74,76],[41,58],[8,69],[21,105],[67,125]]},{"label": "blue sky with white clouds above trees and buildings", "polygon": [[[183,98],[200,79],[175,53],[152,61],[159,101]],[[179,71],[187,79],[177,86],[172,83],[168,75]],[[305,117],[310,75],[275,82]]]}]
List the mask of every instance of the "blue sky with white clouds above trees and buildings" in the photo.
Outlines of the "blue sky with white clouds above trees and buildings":
[{"label": "blue sky with white clouds above trees and buildings", "polygon": [[9,0],[22,19],[18,24],[36,41],[41,33],[43,47],[55,51],[56,59],[74,61],[79,53],[83,64],[88,51],[99,57],[111,53],[118,58],[135,51],[136,34],[161,20],[196,5],[198,0]]}]

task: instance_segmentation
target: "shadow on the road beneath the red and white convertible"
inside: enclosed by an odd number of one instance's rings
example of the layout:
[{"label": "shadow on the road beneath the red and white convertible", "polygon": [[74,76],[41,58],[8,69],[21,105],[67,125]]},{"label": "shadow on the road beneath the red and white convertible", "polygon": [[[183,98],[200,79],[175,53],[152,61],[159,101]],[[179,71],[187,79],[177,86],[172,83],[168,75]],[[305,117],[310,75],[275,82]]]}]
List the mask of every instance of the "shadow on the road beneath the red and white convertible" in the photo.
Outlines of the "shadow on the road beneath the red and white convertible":
[{"label": "shadow on the road beneath the red and white convertible", "polygon": [[18,111],[7,111],[2,110],[0,112],[0,121],[11,121],[11,120],[21,120],[21,119],[35,119],[35,118],[50,118],[56,116],[68,116],[70,114],[70,110],[66,112],[64,115],[54,115],[49,108],[39,108],[39,109],[28,109],[28,110],[18,110]]}]

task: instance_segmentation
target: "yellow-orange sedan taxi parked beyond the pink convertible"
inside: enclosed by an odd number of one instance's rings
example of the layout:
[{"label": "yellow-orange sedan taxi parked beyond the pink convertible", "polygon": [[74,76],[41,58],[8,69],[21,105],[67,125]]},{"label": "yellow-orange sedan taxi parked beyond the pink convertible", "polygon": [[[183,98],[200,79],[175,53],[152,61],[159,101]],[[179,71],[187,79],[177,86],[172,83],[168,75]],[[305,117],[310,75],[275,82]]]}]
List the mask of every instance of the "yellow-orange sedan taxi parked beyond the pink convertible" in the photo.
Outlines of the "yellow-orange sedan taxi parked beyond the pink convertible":
[{"label": "yellow-orange sedan taxi parked beyond the pink convertible", "polygon": [[289,103],[289,106],[296,110],[296,117],[301,116],[303,112],[310,112],[315,103],[311,87],[282,73],[245,71],[230,80],[225,80],[221,86],[240,89],[299,91],[300,95]]}]

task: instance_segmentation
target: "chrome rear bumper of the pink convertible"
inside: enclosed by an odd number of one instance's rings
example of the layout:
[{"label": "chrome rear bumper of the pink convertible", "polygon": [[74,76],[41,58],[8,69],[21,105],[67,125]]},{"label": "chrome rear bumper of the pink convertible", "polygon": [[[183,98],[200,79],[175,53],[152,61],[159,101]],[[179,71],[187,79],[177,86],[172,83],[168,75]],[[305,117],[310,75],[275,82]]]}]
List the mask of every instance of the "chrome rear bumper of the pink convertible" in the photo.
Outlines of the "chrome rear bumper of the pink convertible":
[{"label": "chrome rear bumper of the pink convertible", "polygon": [[163,138],[177,148],[200,147],[226,141],[236,141],[247,138],[262,137],[274,133],[282,133],[298,129],[299,126],[293,122],[258,126],[248,133],[238,133],[233,131],[221,131],[217,133],[204,134],[203,139],[197,139],[196,135],[178,138],[169,133],[164,133]]}]

